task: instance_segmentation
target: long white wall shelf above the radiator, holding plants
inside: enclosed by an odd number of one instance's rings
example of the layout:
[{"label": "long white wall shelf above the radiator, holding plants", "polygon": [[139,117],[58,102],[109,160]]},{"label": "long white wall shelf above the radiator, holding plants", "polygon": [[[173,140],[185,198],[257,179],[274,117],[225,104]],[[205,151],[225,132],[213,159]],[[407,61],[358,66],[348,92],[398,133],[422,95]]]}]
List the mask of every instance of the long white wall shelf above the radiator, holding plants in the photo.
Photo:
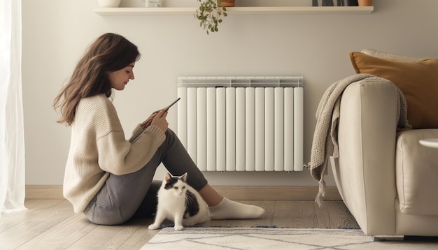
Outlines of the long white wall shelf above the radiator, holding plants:
[{"label": "long white wall shelf above the radiator, holding plants", "polygon": [[[99,15],[193,15],[195,7],[183,8],[95,8]],[[228,15],[309,15],[309,14],[370,14],[373,6],[358,7],[228,7]]]}]

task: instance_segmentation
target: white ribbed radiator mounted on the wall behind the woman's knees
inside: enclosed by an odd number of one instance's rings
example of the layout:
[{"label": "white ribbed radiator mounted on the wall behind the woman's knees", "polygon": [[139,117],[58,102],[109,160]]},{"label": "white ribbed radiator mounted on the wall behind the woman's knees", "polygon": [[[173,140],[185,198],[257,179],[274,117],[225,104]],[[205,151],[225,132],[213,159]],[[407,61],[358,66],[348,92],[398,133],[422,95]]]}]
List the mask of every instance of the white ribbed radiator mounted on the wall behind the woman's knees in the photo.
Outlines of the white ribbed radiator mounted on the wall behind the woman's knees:
[{"label": "white ribbed radiator mounted on the wall behind the woman's knees", "polygon": [[177,134],[202,171],[302,171],[302,77],[179,77]]}]

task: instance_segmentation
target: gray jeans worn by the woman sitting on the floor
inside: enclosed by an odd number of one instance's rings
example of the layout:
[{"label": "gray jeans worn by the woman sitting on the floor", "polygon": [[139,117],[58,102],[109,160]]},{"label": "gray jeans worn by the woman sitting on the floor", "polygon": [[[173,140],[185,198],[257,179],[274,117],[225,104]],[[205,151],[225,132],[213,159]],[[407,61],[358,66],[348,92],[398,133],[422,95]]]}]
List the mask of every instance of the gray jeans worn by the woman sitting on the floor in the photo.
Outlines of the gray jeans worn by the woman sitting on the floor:
[{"label": "gray jeans worn by the woman sitting on the floor", "polygon": [[163,144],[141,170],[127,175],[109,175],[85,209],[87,219],[96,224],[117,225],[134,215],[153,214],[157,208],[157,191],[162,183],[153,181],[153,176],[160,163],[171,175],[188,172],[188,184],[197,191],[207,184],[174,131],[168,129]]}]

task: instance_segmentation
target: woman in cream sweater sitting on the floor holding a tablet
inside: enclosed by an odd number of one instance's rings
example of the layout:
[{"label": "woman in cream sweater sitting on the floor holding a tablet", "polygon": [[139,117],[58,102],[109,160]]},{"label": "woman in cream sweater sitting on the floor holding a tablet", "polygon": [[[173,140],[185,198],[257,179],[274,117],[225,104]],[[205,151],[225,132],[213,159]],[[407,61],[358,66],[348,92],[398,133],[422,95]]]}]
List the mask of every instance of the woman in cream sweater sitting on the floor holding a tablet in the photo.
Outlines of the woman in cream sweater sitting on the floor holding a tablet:
[{"label": "woman in cream sweater sitting on the floor holding a tablet", "polygon": [[211,219],[252,219],[264,209],[220,196],[190,159],[178,137],[167,128],[167,112],[153,112],[125,139],[109,99],[134,80],[140,59],[136,45],[118,34],[97,38],[78,62],[54,101],[58,122],[71,126],[64,175],[64,197],[74,212],[93,223],[116,225],[136,214],[152,214],[160,183],[153,181],[162,162],[172,175],[188,172],[188,183],[209,205]]}]

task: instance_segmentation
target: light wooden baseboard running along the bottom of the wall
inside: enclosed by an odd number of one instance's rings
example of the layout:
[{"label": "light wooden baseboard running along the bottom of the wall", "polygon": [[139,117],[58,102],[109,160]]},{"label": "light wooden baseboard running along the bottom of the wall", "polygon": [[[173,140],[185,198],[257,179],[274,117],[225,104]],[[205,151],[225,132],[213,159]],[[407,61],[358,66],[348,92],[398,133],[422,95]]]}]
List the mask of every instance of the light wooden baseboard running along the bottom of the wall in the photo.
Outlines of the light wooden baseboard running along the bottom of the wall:
[{"label": "light wooden baseboard running along the bottom of the wall", "polygon": [[[318,186],[213,186],[231,200],[315,200]],[[60,185],[27,185],[26,199],[64,199]],[[336,186],[327,186],[324,200],[342,200]]]}]

